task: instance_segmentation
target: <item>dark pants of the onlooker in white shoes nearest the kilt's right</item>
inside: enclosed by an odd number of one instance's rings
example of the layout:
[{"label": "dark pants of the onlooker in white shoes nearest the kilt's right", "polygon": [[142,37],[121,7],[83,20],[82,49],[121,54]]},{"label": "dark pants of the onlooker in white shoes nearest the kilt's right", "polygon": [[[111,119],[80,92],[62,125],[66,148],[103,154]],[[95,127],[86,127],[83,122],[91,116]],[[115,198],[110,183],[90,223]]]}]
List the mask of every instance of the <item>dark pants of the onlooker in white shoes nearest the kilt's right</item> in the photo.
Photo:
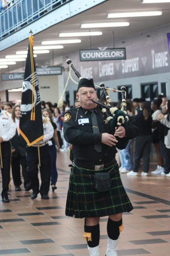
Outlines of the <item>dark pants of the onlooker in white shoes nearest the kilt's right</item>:
[{"label": "dark pants of the onlooker in white shoes nearest the kilt's right", "polygon": [[139,171],[141,158],[143,159],[143,172],[149,172],[151,142],[152,135],[137,136],[134,139],[133,172]]}]

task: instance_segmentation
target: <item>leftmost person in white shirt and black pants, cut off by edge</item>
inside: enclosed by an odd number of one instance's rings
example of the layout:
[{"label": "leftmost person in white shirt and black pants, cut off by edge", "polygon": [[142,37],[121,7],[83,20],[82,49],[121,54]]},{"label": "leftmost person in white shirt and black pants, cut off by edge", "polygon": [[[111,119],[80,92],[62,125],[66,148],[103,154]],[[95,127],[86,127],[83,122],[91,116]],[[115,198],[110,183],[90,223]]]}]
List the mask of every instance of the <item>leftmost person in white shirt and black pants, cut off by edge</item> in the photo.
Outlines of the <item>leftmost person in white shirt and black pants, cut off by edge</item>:
[{"label": "leftmost person in white shirt and black pants, cut off by edge", "polygon": [[[0,99],[1,101],[1,99]],[[10,165],[11,165],[11,140],[16,132],[16,124],[11,114],[1,109],[0,102],[0,166],[2,172],[3,190],[2,201],[9,203],[8,188],[10,182]]]}]

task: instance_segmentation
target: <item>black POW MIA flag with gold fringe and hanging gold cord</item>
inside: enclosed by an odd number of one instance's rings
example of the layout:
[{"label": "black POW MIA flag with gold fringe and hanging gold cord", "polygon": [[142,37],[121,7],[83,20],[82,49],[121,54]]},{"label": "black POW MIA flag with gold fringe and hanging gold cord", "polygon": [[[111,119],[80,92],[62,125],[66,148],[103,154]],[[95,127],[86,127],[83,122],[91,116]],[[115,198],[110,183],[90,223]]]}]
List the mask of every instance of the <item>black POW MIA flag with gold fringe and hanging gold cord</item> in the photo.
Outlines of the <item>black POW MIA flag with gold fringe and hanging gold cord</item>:
[{"label": "black POW MIA flag with gold fringe and hanging gold cord", "polygon": [[40,90],[33,56],[33,36],[29,37],[28,55],[22,87],[20,106],[20,134],[28,146],[42,140],[43,125]]}]

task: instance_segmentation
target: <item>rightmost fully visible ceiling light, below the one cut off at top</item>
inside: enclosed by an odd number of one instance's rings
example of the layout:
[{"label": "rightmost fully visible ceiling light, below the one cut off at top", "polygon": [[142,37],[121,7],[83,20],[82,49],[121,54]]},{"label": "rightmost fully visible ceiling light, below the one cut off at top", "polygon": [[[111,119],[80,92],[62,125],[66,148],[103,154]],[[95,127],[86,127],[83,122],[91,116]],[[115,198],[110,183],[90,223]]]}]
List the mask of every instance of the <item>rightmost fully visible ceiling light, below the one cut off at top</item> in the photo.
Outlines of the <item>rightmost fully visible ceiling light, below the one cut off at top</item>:
[{"label": "rightmost fully visible ceiling light, below the one cut off at top", "polygon": [[144,17],[162,15],[161,11],[146,11],[146,12],[115,12],[109,13],[108,18],[123,18],[123,17]]}]

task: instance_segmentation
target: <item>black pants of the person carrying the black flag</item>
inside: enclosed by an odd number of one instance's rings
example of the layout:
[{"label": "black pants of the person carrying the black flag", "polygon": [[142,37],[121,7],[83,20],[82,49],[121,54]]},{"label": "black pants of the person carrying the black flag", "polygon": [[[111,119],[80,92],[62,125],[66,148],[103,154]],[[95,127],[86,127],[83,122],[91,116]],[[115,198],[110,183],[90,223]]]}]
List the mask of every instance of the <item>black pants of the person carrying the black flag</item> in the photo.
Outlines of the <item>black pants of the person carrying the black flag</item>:
[{"label": "black pants of the person carrying the black flag", "polygon": [[[41,186],[38,179],[38,148],[27,147],[26,160],[28,164],[28,175],[31,179],[33,193],[40,191],[41,195],[47,195],[50,187],[51,163],[50,149],[48,144],[40,147],[40,175]],[[40,187],[40,189],[39,189]]]}]

